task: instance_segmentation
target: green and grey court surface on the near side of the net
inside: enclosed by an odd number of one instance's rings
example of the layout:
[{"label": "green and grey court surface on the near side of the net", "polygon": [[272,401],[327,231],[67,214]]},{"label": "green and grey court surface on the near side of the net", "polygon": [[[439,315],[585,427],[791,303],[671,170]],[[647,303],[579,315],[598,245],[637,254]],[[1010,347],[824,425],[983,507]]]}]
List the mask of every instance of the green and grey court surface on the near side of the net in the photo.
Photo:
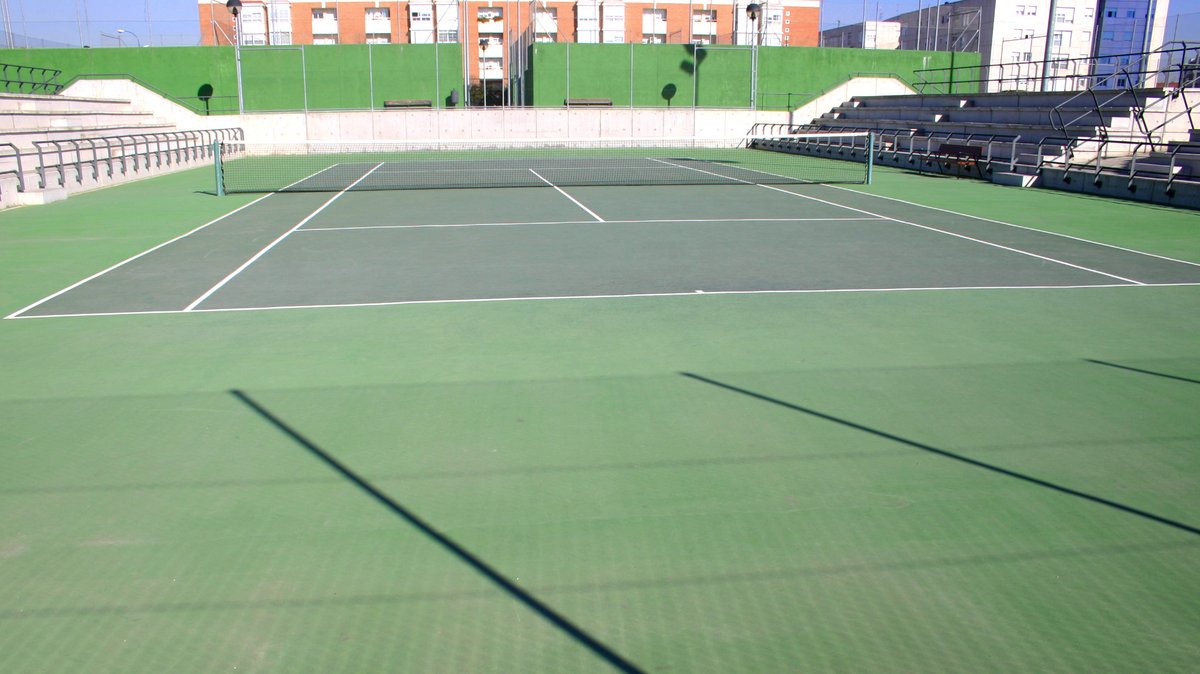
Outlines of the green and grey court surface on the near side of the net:
[{"label": "green and grey court surface on the near side of the net", "polygon": [[1195,212],[209,191],[0,213],[0,670],[1200,661]]}]

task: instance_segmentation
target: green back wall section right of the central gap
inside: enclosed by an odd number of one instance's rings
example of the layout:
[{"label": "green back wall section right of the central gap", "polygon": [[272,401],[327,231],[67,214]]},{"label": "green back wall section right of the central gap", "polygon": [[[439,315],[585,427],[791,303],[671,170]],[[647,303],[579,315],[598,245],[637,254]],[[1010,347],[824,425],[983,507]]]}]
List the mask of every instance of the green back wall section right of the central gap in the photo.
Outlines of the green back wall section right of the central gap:
[{"label": "green back wall section right of the central gap", "polygon": [[[530,48],[533,104],[562,106],[566,98],[611,98],[613,106],[750,106],[751,52],[690,44],[556,44]],[[632,64],[632,67],[630,66]],[[914,82],[914,71],[978,66],[978,54],[763,47],[758,52],[760,108],[796,107],[846,82],[854,73],[894,73]],[[569,73],[565,74],[556,73]],[[665,94],[674,91],[673,97]],[[956,85],[966,91],[968,85]]]}]

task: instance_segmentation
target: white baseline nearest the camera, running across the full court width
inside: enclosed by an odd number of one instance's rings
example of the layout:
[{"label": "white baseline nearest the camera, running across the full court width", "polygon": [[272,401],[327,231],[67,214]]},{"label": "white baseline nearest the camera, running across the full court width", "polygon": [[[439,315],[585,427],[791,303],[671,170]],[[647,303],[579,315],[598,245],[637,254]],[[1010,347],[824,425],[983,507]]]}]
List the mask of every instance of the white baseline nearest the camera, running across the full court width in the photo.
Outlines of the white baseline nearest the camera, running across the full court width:
[{"label": "white baseline nearest the camera, running across the full court width", "polygon": [[529,297],[473,297],[458,300],[397,300],[391,302],[349,302],[344,305],[286,305],[276,307],[230,307],[214,309],[162,309],[162,311],[133,311],[133,312],[97,312],[97,313],[71,313],[71,314],[40,314],[17,317],[17,320],[31,320],[40,318],[85,318],[85,317],[116,317],[116,315],[152,315],[152,314],[200,314],[200,313],[228,313],[228,312],[265,312],[281,309],[334,309],[354,307],[396,307],[407,305],[467,305],[487,302],[541,302],[554,300],[620,300],[637,297],[696,297],[712,295],[828,295],[839,293],[928,293],[936,290],[1086,290],[1092,288],[1181,288],[1200,287],[1200,283],[1141,283],[1130,285],[1129,283],[1097,283],[1093,285],[958,285],[948,288],[821,288],[809,290],[704,290],[703,293],[629,293],[620,295],[551,295]]}]

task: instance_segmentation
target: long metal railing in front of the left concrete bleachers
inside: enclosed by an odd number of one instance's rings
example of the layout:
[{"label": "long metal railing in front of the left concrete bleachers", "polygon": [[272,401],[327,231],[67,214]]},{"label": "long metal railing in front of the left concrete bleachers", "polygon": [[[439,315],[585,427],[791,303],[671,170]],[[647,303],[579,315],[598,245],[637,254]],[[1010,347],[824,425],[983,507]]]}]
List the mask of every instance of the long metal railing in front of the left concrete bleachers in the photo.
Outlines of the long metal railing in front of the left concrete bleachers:
[{"label": "long metal railing in front of the left concrete bleachers", "polygon": [[35,140],[34,148],[37,151],[40,187],[44,189],[49,187],[50,170],[56,169],[58,185],[61,187],[66,186],[71,168],[74,169],[74,181],[83,183],[85,167],[91,169],[91,180],[100,180],[102,168],[107,171],[106,177],[113,177],[118,173],[142,173],[163,164],[170,167],[209,158],[215,142],[244,139],[241,128],[214,128]]}]

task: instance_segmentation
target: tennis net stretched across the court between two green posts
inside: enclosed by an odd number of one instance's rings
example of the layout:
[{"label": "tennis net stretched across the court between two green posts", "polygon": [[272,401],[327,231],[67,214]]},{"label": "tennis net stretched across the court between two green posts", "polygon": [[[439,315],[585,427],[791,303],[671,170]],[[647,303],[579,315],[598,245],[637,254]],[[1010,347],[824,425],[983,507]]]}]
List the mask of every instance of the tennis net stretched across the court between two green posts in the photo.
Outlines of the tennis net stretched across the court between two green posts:
[{"label": "tennis net stretched across the court between two green posts", "polygon": [[870,181],[868,133],[736,138],[226,142],[217,192]]}]

